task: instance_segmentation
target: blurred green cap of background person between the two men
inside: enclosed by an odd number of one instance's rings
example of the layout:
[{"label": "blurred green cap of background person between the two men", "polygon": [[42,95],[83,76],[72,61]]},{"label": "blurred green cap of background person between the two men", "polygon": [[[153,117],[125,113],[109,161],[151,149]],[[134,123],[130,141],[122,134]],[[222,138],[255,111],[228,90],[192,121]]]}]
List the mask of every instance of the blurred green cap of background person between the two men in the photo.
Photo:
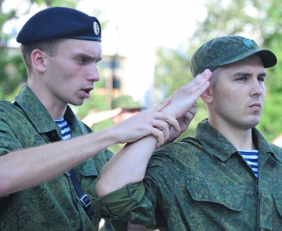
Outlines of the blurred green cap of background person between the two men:
[{"label": "blurred green cap of background person between the two men", "polygon": [[111,103],[111,107],[112,109],[122,108],[127,110],[140,110],[144,108],[139,102],[134,101],[133,97],[129,95],[122,95],[114,98]]}]

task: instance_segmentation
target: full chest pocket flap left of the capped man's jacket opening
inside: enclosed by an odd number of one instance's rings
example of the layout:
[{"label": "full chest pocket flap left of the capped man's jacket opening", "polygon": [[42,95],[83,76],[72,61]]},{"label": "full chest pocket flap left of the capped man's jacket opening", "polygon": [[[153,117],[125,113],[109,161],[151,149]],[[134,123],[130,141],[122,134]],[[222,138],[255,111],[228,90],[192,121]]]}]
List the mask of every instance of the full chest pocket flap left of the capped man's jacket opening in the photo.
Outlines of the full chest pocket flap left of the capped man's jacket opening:
[{"label": "full chest pocket flap left of the capped man's jacket opening", "polygon": [[213,202],[234,211],[242,211],[244,206],[244,188],[189,175],[186,189],[192,199],[198,202]]}]

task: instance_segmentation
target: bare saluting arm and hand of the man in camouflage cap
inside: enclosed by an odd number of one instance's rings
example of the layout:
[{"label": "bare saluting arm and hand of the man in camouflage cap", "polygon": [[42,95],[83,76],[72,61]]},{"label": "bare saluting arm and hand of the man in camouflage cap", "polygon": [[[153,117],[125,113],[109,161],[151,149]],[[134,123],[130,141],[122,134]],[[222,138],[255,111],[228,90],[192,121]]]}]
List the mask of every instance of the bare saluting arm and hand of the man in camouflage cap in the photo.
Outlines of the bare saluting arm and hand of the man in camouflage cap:
[{"label": "bare saluting arm and hand of the man in camouflage cap", "polygon": [[[169,97],[169,105],[161,111],[176,119],[181,119],[187,113],[183,123],[189,124],[194,117],[196,101],[208,88],[212,73],[206,70],[187,85],[174,91]],[[155,110],[155,108],[150,109]],[[96,185],[98,196],[106,195],[130,183],[140,182],[145,175],[147,163],[156,148],[157,140],[152,135],[127,144],[103,168]]]}]

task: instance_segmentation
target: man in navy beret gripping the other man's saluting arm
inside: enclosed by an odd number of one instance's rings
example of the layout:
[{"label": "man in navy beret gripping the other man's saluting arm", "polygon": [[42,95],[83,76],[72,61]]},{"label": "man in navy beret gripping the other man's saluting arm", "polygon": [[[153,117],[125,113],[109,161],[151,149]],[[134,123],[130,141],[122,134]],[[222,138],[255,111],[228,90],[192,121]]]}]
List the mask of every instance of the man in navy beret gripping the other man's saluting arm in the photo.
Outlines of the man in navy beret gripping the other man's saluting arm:
[{"label": "man in navy beret gripping the other man's saluting arm", "polygon": [[[155,147],[172,139],[168,124],[178,134],[187,128],[210,76],[200,75],[186,92],[179,91],[179,100],[191,92],[194,98],[174,113],[160,111],[172,111],[176,97],[93,133],[68,104],[81,105],[99,81],[99,21],[53,7],[32,16],[17,41],[28,81],[14,102],[0,101],[0,230],[98,230],[101,217],[110,218],[115,230],[126,230],[126,220],[86,194],[113,156],[106,148],[143,137]],[[122,150],[127,151],[132,152]]]}]

